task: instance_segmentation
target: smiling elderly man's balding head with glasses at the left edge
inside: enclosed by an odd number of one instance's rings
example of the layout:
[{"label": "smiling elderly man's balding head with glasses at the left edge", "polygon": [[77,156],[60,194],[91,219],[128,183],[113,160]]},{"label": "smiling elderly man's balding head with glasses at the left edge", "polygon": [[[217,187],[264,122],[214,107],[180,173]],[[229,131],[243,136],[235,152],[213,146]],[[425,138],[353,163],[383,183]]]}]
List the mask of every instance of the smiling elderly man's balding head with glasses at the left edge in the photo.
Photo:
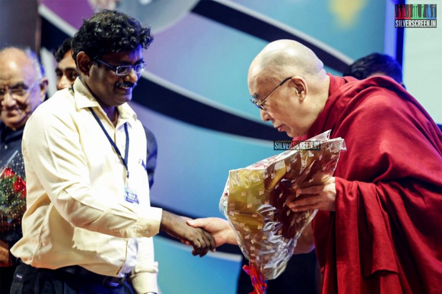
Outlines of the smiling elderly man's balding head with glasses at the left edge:
[{"label": "smiling elderly man's balding head with glasses at the left edge", "polygon": [[47,79],[30,49],[0,50],[0,119],[12,129],[22,127],[44,100]]}]

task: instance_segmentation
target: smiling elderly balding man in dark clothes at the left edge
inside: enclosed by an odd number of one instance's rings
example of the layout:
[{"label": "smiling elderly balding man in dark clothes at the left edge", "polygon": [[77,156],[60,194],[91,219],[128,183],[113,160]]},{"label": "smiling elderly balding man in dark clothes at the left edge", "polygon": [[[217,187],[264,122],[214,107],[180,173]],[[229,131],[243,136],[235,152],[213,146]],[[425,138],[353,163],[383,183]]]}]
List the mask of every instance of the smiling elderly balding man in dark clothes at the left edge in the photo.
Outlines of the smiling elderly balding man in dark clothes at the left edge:
[{"label": "smiling elderly balding man in dark clothes at the left edge", "polygon": [[[30,49],[0,50],[0,169],[16,151],[21,152],[23,128],[45,99],[47,85],[43,67]],[[18,224],[14,232],[8,233],[1,228],[0,234],[0,293],[9,293],[16,268],[9,248],[20,239],[21,226]]]}]

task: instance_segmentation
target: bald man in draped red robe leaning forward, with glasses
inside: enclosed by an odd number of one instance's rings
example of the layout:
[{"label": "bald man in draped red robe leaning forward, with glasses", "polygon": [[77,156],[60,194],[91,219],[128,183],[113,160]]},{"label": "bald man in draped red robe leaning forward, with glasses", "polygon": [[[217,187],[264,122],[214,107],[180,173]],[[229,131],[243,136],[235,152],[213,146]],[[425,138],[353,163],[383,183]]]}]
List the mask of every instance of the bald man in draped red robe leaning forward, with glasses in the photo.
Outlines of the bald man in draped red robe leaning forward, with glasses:
[{"label": "bald man in draped red robe leaning forward, with glasses", "polygon": [[[295,140],[331,129],[345,139],[334,177],[298,189],[294,211],[319,209],[295,253],[314,241],[322,292],[442,293],[442,133],[391,78],[327,74],[300,43],[266,46],[249,69],[263,121]],[[189,221],[236,244],[225,221]]]}]

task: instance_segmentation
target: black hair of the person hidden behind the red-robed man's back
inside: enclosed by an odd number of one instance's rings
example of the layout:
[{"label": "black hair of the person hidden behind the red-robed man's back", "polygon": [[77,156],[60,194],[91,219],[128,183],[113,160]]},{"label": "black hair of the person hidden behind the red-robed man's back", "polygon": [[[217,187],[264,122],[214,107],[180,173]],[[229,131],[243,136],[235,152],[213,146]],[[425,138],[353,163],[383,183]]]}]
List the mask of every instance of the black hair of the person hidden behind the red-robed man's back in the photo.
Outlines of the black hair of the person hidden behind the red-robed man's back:
[{"label": "black hair of the person hidden behind the red-robed man's back", "polygon": [[364,79],[377,72],[385,73],[396,82],[402,83],[402,67],[399,62],[390,55],[381,53],[372,53],[359,58],[342,75]]}]

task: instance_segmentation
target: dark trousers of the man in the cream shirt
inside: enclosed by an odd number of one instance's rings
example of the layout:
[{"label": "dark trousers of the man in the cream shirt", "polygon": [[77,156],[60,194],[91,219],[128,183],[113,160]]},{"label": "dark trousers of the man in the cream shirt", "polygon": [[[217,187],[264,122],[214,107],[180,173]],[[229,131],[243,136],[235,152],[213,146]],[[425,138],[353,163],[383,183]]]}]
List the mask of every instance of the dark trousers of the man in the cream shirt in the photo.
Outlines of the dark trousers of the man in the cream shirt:
[{"label": "dark trousers of the man in the cream shirt", "polygon": [[133,294],[125,281],[111,287],[62,269],[37,269],[21,262],[14,273],[10,294]]}]

